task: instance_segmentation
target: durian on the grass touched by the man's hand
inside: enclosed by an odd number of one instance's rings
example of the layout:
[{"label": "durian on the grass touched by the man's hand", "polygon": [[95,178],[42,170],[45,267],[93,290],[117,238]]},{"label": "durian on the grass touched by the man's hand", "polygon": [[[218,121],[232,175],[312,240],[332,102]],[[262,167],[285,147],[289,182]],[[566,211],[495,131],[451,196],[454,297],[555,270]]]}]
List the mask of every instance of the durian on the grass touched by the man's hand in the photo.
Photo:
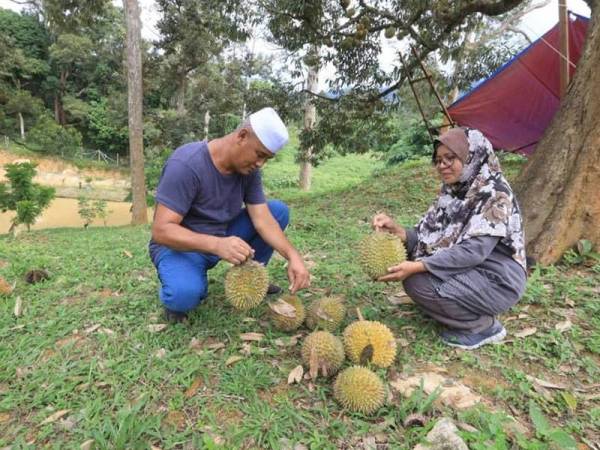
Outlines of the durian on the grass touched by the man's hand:
[{"label": "durian on the grass touched by the man's hand", "polygon": [[267,295],[268,287],[267,269],[256,261],[233,266],[225,275],[225,297],[242,311],[257,306]]}]

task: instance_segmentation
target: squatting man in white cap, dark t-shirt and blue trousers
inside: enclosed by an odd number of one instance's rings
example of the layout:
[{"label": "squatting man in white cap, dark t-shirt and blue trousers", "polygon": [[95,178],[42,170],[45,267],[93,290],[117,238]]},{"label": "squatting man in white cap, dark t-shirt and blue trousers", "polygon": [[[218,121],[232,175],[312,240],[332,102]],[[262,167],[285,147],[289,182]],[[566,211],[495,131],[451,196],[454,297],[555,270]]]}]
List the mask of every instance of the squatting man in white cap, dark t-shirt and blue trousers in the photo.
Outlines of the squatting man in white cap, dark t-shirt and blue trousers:
[{"label": "squatting man in white cap, dark t-shirt and blue trousers", "polygon": [[[288,260],[289,289],[308,287],[302,257],[286,239],[289,210],[267,202],[260,168],[288,141],[272,108],[250,115],[236,131],[179,147],[156,191],[150,257],[161,283],[167,319],[180,322],[207,295],[207,271],[221,259],[267,264],[273,249]],[[242,208],[245,204],[245,208]],[[270,286],[269,292],[280,290]]]}]

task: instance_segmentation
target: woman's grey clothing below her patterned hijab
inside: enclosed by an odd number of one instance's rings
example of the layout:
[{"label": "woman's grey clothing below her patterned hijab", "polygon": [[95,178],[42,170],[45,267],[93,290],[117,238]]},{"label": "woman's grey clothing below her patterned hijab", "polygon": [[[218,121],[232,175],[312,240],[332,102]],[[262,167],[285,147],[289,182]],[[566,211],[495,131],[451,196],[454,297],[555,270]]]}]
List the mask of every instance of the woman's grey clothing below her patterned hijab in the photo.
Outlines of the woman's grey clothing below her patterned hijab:
[{"label": "woman's grey clothing below her patterned hijab", "polygon": [[448,328],[479,333],[506,312],[520,295],[478,270],[442,281],[428,272],[404,280],[404,290],[419,308]]}]

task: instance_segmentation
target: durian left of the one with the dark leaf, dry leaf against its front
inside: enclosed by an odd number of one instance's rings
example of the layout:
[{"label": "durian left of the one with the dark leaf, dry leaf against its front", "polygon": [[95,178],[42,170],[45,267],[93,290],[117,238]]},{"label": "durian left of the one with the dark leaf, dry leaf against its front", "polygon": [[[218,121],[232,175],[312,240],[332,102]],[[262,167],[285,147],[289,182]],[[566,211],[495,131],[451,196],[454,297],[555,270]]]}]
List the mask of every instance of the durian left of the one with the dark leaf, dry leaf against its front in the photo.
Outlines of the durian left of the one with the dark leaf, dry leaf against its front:
[{"label": "durian left of the one with the dark leaf, dry leaf against its front", "polygon": [[302,361],[313,379],[336,373],[344,362],[344,344],[328,331],[313,331],[302,344]]}]

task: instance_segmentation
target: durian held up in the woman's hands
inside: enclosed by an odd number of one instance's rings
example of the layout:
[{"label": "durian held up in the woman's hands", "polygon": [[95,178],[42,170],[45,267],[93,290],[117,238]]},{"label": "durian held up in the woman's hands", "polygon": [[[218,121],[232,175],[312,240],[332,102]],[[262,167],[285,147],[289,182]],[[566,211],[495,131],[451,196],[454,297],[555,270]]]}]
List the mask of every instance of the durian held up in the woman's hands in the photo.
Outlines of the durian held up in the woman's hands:
[{"label": "durian held up in the woman's hands", "polygon": [[406,261],[402,240],[390,233],[376,231],[367,235],[358,250],[363,270],[374,280],[387,274],[391,266]]}]

